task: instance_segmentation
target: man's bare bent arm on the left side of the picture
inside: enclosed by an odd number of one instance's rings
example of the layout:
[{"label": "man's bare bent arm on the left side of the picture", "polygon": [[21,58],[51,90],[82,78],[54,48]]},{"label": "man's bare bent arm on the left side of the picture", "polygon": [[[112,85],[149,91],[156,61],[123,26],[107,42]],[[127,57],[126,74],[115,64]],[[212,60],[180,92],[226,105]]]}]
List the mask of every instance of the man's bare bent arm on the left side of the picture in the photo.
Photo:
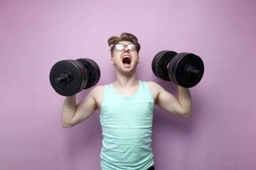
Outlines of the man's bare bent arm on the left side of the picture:
[{"label": "man's bare bent arm on the left side of the picture", "polygon": [[71,128],[83,122],[94,113],[97,108],[96,96],[99,95],[98,88],[92,89],[78,105],[75,102],[75,95],[65,97],[61,124],[64,128]]}]

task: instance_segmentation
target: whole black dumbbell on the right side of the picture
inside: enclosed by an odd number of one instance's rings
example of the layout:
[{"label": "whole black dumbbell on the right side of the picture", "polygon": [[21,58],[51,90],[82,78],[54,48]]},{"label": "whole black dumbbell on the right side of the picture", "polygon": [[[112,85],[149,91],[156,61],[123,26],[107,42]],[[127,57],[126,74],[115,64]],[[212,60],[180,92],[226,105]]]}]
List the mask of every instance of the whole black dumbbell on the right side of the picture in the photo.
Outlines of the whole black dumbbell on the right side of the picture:
[{"label": "whole black dumbbell on the right side of the picture", "polygon": [[177,53],[163,50],[154,56],[152,71],[156,77],[164,81],[190,88],[194,87],[203,77],[203,60],[188,52]]}]

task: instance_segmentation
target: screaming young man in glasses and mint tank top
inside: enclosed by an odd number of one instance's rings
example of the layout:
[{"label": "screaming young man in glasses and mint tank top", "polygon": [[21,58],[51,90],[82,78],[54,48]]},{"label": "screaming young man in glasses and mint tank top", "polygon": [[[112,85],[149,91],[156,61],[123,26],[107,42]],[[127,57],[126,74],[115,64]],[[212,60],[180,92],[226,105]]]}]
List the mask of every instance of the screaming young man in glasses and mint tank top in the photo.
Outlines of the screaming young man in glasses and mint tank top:
[{"label": "screaming young man in glasses and mint tank top", "polygon": [[75,95],[66,97],[62,126],[71,128],[98,109],[103,135],[102,170],[154,169],[151,148],[154,105],[173,114],[191,116],[189,89],[178,87],[179,95],[174,97],[157,83],[137,80],[140,45],[132,34],[113,36],[108,39],[108,45],[117,79],[94,87],[78,105]]}]

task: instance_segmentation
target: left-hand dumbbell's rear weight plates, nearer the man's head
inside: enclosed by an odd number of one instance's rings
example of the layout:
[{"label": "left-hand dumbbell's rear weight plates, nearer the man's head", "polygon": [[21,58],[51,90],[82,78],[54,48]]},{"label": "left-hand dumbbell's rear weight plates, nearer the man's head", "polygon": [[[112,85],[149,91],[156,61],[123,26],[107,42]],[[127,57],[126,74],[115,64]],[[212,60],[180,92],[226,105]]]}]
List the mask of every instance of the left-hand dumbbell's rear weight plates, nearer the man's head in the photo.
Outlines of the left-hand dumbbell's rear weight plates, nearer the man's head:
[{"label": "left-hand dumbbell's rear weight plates, nearer the man's head", "polygon": [[87,83],[84,86],[84,89],[89,89],[90,87],[96,85],[100,79],[100,67],[98,67],[97,63],[90,58],[79,58],[77,59],[87,71]]}]

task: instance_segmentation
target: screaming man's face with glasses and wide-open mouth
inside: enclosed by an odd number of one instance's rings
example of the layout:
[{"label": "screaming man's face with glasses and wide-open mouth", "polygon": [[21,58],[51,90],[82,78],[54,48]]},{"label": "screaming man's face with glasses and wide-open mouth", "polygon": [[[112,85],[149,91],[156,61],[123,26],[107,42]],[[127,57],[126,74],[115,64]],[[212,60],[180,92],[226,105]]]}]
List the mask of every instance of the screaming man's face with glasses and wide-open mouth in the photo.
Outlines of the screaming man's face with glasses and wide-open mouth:
[{"label": "screaming man's face with glasses and wide-open mouth", "polygon": [[114,48],[111,64],[115,65],[118,71],[135,71],[139,63],[139,56],[135,45],[131,42],[121,41]]}]

